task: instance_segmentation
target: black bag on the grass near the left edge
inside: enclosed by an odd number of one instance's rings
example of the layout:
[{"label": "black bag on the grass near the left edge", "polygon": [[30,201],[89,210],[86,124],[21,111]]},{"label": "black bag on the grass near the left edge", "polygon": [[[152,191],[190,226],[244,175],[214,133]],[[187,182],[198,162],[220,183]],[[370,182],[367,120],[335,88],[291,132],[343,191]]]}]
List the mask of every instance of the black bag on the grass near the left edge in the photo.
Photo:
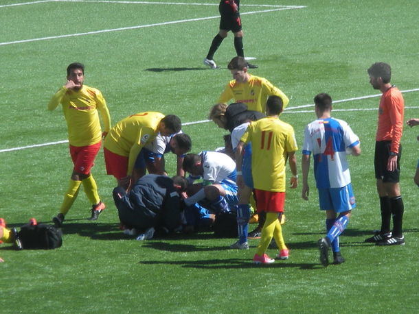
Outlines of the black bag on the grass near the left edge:
[{"label": "black bag on the grass near the left edge", "polygon": [[19,231],[23,250],[52,250],[63,245],[63,233],[52,225],[26,224]]}]

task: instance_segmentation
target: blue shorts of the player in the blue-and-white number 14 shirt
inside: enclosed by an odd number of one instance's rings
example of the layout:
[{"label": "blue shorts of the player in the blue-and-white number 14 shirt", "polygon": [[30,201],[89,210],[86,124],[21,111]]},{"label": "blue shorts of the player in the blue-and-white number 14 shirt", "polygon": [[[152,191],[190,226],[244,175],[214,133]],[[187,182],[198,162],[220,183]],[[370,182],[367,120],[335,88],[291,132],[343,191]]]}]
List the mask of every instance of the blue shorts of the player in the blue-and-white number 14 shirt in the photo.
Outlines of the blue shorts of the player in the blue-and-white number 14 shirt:
[{"label": "blue shorts of the player in the blue-and-white number 14 shirt", "polygon": [[352,184],[335,189],[319,189],[321,210],[335,210],[343,213],[356,207]]}]

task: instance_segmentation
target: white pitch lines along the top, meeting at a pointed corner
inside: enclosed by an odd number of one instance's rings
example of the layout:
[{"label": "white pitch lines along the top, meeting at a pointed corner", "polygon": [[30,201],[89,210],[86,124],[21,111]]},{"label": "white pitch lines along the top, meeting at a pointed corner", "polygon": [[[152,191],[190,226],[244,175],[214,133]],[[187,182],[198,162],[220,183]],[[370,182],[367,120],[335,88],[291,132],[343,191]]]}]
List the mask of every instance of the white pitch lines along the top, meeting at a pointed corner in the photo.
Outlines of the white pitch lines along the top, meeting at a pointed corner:
[{"label": "white pitch lines along the top, meeting at a pointed corner", "polygon": [[[44,2],[104,2],[109,3],[111,1],[86,1],[86,0],[45,0],[45,1],[36,1],[32,3],[44,3]],[[131,2],[126,1],[127,3],[139,3],[139,2]],[[31,2],[26,3],[16,3],[14,5],[24,5],[24,4],[32,4]],[[121,3],[121,1],[113,1],[113,3]],[[141,2],[142,4],[146,2]],[[152,3],[152,2],[147,2]],[[156,2],[157,3],[157,2]],[[153,3],[155,4],[155,3]],[[161,2],[159,4],[168,4]],[[172,4],[179,4],[179,3],[172,3]],[[182,4],[190,4],[190,3],[182,3]],[[203,5],[200,3],[193,3],[194,5]],[[0,5],[0,8],[6,6],[6,5]],[[10,6],[10,5],[8,5]],[[263,5],[255,5],[255,6],[263,6]],[[266,6],[266,5],[265,5]],[[274,7],[275,5],[271,5],[271,7]],[[252,12],[244,12],[240,13],[241,15],[245,14],[256,14],[256,13],[267,13],[267,12],[275,12],[275,11],[282,11],[282,10],[294,10],[294,9],[302,9],[306,8],[304,6],[282,6],[281,8],[275,8],[271,10],[260,10],[260,11],[252,11]],[[34,41],[40,41],[40,40],[52,40],[52,39],[58,39],[58,38],[67,38],[67,37],[76,37],[76,36],[86,36],[86,35],[93,35],[93,34],[102,34],[102,33],[109,33],[109,32],[121,32],[129,29],[140,29],[145,27],[154,27],[154,26],[161,26],[161,25],[171,25],[171,24],[179,24],[179,23],[187,23],[187,22],[196,22],[196,21],[205,21],[210,19],[219,19],[220,16],[207,16],[197,19],[185,19],[185,20],[179,20],[179,21],[169,21],[169,22],[162,22],[162,23],[154,23],[154,24],[146,24],[146,25],[136,25],[136,26],[128,26],[128,27],[118,27],[113,29],[100,29],[98,31],[91,31],[91,32],[82,32],[82,33],[76,33],[76,34],[66,34],[66,35],[57,35],[57,36],[47,36],[47,37],[41,37],[41,38],[32,38],[32,39],[23,39],[23,40],[14,40],[10,42],[4,42],[0,43],[0,46],[5,45],[14,45],[14,44],[21,44],[21,43],[32,43]]]}]

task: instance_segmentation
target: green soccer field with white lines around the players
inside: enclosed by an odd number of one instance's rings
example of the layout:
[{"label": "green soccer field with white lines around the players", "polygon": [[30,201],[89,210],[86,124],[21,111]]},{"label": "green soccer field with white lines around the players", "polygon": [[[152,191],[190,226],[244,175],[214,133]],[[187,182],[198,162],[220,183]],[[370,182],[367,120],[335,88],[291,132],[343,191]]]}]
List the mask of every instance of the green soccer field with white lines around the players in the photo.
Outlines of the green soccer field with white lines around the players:
[{"label": "green soccer field with white lines around the players", "polygon": [[[207,114],[231,80],[233,36],[214,56],[220,69],[202,63],[218,32],[218,2],[0,1],[0,217],[9,226],[30,217],[49,223],[63,200],[72,169],[67,128],[62,110],[48,112],[47,103],[71,62],[85,64],[85,84],[102,91],[113,124],[142,111],[177,114],[192,152],[223,145],[227,132]],[[405,128],[402,139],[406,245],[363,242],[380,225],[373,165],[380,95],[366,70],[391,64],[405,120],[419,117],[416,1],[242,0],[240,11],[245,55],[259,66],[249,72],[291,99],[281,119],[293,125],[299,147],[317,93],[332,96],[332,116],[361,138],[361,156],[348,158],[357,206],[340,238],[346,263],[319,263],[325,226],[313,171],[310,200],[302,200],[301,186],[287,191],[290,259],[260,267],[251,263],[258,240],[239,251],[228,249],[234,239],[208,233],[126,237],[100,152],[92,172],[107,209],[87,221],[89,202],[80,193],[66,216],[63,247],[17,252],[0,245],[0,313],[417,312],[418,127]],[[174,155],[166,164],[174,173]]]}]

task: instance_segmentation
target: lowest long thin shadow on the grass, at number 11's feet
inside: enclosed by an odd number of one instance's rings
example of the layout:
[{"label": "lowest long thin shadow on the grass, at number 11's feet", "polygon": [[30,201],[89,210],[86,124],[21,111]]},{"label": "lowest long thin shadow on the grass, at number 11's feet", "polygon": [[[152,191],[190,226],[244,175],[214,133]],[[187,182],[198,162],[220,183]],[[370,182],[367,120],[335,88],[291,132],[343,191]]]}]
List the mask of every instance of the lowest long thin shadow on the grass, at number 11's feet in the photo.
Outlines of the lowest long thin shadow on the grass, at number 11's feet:
[{"label": "lowest long thin shadow on the grass, at number 11's feet", "polygon": [[305,270],[323,269],[319,264],[314,263],[287,263],[284,261],[275,261],[269,265],[253,264],[249,259],[227,258],[227,259],[210,259],[200,261],[139,261],[142,265],[180,265],[185,268],[198,269],[238,269],[238,268],[299,268]]}]

